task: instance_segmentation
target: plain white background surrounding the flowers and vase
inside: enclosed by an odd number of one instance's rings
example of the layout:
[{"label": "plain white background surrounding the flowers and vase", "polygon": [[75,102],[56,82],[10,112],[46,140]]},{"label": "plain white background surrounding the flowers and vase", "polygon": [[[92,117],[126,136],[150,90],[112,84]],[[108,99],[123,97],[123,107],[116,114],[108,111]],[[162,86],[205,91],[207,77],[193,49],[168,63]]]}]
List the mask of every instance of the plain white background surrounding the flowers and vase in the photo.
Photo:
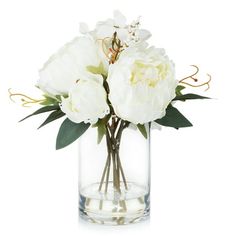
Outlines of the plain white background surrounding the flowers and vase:
[{"label": "plain white background surrounding the flowers and vase", "polygon": [[[235,1],[7,0],[0,3],[0,235],[236,235]],[[177,78],[197,64],[213,77],[194,90],[210,101],[177,104],[193,128],[152,134],[149,222],[102,227],[78,220],[77,145],[55,151],[61,121],[37,131],[44,116],[8,99],[33,87],[48,57],[78,35],[79,22],[142,15],[151,44],[175,61]]]}]

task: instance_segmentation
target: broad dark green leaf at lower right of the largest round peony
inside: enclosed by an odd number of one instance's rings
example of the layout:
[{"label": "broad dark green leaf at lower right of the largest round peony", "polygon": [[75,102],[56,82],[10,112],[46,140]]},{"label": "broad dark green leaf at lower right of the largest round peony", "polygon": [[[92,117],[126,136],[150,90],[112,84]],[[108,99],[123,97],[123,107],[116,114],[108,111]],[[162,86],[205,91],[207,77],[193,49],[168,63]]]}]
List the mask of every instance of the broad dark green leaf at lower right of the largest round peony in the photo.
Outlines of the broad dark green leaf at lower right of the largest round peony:
[{"label": "broad dark green leaf at lower right of the largest round peony", "polygon": [[155,120],[156,123],[173,127],[175,129],[190,127],[193,126],[189,120],[187,120],[175,107],[169,105],[166,109],[166,115],[161,118]]}]

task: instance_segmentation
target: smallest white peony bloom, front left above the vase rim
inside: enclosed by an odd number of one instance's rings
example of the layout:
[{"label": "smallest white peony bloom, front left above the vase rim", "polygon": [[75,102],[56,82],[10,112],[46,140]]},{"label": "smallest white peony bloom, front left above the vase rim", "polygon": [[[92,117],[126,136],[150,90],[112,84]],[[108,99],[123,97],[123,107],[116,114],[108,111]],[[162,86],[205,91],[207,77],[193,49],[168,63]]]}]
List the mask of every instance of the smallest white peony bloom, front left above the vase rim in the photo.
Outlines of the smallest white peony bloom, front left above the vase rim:
[{"label": "smallest white peony bloom, front left above the vase rim", "polygon": [[61,110],[75,123],[95,124],[110,112],[102,83],[92,79],[78,81],[69,91],[69,97],[62,97]]}]

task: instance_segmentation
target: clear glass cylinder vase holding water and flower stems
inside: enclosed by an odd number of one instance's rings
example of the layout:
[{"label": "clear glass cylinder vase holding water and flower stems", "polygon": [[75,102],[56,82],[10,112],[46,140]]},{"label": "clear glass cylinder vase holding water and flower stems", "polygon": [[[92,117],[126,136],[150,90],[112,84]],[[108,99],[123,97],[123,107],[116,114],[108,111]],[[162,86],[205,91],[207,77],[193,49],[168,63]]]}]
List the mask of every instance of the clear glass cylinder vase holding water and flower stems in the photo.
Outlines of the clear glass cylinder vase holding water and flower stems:
[{"label": "clear glass cylinder vase holding water and flower stems", "polygon": [[107,225],[136,223],[150,212],[150,128],[147,138],[120,120],[108,124],[98,144],[97,128],[79,141],[79,212]]}]

